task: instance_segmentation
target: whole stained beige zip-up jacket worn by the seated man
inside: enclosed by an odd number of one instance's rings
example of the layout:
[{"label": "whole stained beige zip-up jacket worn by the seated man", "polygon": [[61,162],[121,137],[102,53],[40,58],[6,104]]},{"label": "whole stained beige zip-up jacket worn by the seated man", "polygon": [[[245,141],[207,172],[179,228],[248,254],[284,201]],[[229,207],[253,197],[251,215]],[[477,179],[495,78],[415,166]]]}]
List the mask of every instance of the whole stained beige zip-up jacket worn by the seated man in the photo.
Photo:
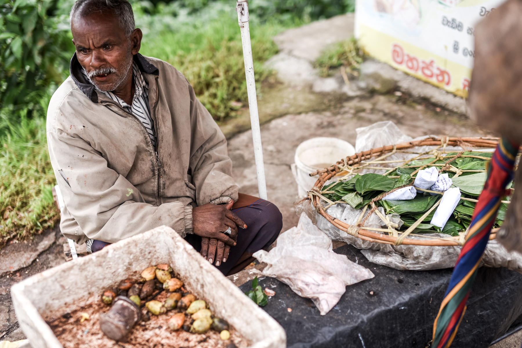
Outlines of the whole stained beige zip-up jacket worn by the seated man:
[{"label": "whole stained beige zip-up jacket worn by the seated man", "polygon": [[97,92],[80,72],[56,90],[47,113],[51,164],[62,192],[62,233],[114,243],[167,225],[192,233],[192,208],[238,200],[227,140],[183,74],[134,56],[149,85],[156,132]]}]

